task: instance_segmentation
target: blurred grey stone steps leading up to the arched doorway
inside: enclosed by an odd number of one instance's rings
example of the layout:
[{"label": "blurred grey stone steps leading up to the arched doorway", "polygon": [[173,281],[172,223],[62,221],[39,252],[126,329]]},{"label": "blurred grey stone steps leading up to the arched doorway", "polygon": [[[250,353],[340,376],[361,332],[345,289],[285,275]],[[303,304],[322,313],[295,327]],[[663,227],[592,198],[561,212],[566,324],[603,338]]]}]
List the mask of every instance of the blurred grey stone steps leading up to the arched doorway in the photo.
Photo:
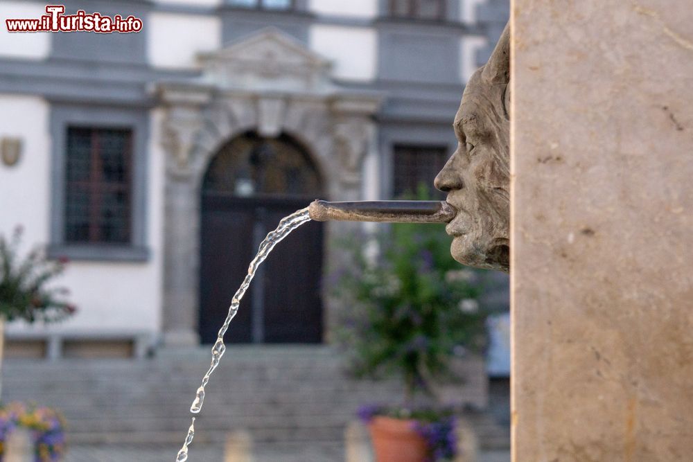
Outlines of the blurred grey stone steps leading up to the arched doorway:
[{"label": "blurred grey stone steps leading up to the arched doorway", "polygon": [[[159,350],[149,359],[8,359],[2,398],[61,409],[71,443],[179,445],[209,360],[209,348]],[[483,364],[467,363],[457,396],[483,404]],[[257,443],[341,443],[360,405],[401,400],[396,382],[351,380],[342,364],[328,346],[229,346],[207,386],[195,443],[220,443],[233,429],[247,429]],[[493,425],[477,420],[491,432],[482,442],[495,445]]]}]

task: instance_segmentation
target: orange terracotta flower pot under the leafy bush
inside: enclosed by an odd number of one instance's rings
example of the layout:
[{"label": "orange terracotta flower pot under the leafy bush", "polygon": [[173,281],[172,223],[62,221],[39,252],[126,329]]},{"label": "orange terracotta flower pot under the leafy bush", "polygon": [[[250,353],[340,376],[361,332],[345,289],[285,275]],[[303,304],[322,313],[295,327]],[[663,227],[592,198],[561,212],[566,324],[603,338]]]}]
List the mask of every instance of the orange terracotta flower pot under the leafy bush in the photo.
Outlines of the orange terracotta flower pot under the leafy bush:
[{"label": "orange terracotta flower pot under the leafy bush", "polygon": [[414,430],[414,420],[376,416],[369,423],[376,462],[424,462],[426,440]]}]

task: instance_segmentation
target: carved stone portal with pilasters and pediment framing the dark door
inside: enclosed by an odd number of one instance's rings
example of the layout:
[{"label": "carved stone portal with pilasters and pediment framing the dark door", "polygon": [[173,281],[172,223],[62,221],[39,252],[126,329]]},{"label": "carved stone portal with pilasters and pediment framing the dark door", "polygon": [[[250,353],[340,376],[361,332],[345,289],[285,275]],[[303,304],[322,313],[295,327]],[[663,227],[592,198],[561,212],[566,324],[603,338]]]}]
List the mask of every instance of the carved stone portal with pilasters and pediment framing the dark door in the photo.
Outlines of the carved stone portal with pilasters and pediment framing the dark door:
[{"label": "carved stone portal with pilasters and pediment framing the dark door", "polygon": [[[200,78],[157,85],[166,150],[164,339],[198,343],[200,188],[212,157],[248,131],[286,133],[313,154],[329,199],[362,197],[362,165],[376,149],[378,94],[334,85],[329,64],[270,29],[202,57]],[[326,241],[334,233],[326,226]],[[326,260],[331,251],[326,248]],[[326,328],[332,324],[327,307]]]}]

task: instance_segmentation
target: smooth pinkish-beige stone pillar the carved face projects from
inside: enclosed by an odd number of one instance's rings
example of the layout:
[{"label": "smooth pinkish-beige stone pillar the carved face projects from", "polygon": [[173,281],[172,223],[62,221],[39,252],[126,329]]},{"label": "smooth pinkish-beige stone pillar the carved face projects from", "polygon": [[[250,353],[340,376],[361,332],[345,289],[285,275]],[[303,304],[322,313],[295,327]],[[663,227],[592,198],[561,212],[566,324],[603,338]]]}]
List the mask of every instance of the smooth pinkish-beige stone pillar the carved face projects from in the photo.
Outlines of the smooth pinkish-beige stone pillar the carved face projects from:
[{"label": "smooth pinkish-beige stone pillar the carved face projects from", "polygon": [[693,9],[514,0],[513,460],[693,454]]}]

